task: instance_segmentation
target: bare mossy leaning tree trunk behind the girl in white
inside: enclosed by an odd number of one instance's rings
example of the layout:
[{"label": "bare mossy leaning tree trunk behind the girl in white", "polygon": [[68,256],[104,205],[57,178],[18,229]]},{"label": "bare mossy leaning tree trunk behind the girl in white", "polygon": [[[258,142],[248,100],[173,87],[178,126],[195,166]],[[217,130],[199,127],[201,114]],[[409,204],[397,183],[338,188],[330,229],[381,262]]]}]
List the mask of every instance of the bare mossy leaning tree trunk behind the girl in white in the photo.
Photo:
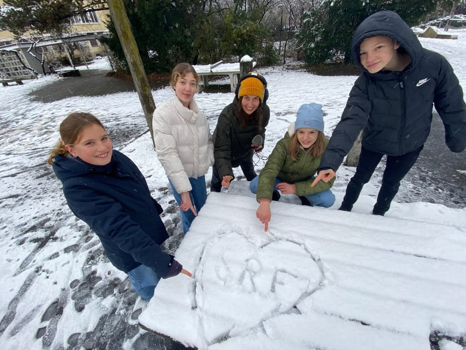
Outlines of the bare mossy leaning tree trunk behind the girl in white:
[{"label": "bare mossy leaning tree trunk behind the girl in white", "polygon": [[131,71],[131,76],[133,77],[134,87],[136,88],[147,125],[149,126],[152,142],[154,142],[152,113],[155,110],[155,103],[152,93],[150,92],[149,81],[137,49],[130,21],[126,15],[125,6],[122,0],[108,0],[107,3],[110,16],[112,16],[113,23],[115,24],[116,33],[120,39],[121,47],[123,48],[126,61]]}]

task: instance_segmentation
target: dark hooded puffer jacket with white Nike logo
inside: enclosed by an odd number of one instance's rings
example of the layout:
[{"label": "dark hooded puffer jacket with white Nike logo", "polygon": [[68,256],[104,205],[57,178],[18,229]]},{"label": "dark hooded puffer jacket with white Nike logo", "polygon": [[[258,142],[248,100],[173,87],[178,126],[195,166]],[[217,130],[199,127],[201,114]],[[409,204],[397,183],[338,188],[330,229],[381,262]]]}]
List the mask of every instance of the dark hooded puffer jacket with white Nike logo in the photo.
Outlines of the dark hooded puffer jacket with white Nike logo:
[{"label": "dark hooded puffer jacket with white Nike logo", "polygon": [[[361,65],[359,45],[377,35],[396,40],[410,55],[411,63],[403,71],[371,74]],[[449,149],[465,149],[466,105],[458,78],[445,57],[422,48],[396,13],[381,11],[366,18],[353,35],[352,55],[364,71],[350,91],[320,169],[336,171],[363,128],[362,145],[371,151],[400,156],[415,150],[429,136],[433,105],[444,123]]]}]

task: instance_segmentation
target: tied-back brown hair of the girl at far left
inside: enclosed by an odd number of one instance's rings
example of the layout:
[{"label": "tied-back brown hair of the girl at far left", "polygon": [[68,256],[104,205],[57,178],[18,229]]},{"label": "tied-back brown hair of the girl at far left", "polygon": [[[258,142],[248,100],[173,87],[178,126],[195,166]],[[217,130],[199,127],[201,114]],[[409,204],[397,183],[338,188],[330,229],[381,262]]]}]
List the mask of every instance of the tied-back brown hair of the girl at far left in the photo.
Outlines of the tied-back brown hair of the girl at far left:
[{"label": "tied-back brown hair of the girl at far left", "polygon": [[69,114],[63,122],[60,123],[60,139],[50,152],[47,163],[52,165],[55,161],[55,156],[66,157],[68,155],[68,151],[65,146],[72,146],[74,143],[79,141],[81,132],[84,127],[89,124],[97,124],[105,130],[105,127],[100,123],[100,120],[90,113],[80,112]]}]

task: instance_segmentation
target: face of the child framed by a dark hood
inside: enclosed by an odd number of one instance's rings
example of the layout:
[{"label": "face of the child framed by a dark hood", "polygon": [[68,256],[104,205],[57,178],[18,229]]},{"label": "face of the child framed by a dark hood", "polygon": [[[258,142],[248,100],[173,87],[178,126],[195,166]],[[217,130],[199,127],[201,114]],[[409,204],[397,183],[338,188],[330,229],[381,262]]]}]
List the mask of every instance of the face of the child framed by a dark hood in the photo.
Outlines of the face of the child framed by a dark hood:
[{"label": "face of the child framed by a dark hood", "polygon": [[397,70],[399,44],[385,35],[366,38],[359,46],[359,59],[369,73],[377,73],[382,69]]}]

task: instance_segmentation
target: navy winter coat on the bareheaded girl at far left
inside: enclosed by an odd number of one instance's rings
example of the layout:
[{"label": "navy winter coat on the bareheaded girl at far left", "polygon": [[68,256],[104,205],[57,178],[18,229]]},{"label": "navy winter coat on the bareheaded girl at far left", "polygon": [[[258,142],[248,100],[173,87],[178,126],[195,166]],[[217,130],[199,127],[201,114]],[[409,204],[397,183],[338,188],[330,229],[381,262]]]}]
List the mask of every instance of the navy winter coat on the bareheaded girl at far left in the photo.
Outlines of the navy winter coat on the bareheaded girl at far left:
[{"label": "navy winter coat on the bareheaded girl at far left", "polygon": [[109,164],[96,166],[69,154],[56,156],[53,171],[69,208],[97,233],[117,269],[129,272],[144,264],[167,275],[172,256],[160,247],[168,238],[162,207],[130,158],[114,150]]}]

